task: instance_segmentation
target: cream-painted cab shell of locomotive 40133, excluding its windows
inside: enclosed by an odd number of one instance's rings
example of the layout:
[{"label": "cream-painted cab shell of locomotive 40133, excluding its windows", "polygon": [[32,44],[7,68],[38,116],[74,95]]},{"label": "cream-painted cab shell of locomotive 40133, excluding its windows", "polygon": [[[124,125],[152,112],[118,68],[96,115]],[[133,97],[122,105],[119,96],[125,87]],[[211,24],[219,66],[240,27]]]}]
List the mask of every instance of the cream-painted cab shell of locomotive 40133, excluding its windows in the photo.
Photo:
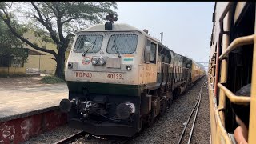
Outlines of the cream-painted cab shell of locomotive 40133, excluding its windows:
[{"label": "cream-painted cab shell of locomotive 40133, excluding its windows", "polygon": [[[86,53],[85,57],[81,52],[75,52],[77,38],[82,35],[102,35],[102,46],[95,53]],[[138,37],[136,42],[136,50],[131,54],[120,53],[121,58],[118,58],[118,53],[110,54],[107,52],[107,46],[110,37],[115,34],[134,35]],[[114,24],[113,30],[105,30],[104,25],[96,25],[86,30],[79,32],[74,38],[74,44],[70,50],[70,56],[67,62],[73,63],[73,69],[69,69],[66,65],[66,81],[80,81],[80,82],[101,82],[101,83],[118,83],[129,85],[142,85],[154,83],[157,79],[157,64],[142,62],[142,55],[146,47],[146,39],[154,42],[156,50],[154,57],[157,59],[158,40],[146,34],[142,30],[138,30],[133,26],[126,24]],[[106,58],[106,64],[103,66],[94,66],[91,58],[103,57]],[[87,61],[87,62],[85,62]],[[130,66],[131,70],[126,70]]]}]

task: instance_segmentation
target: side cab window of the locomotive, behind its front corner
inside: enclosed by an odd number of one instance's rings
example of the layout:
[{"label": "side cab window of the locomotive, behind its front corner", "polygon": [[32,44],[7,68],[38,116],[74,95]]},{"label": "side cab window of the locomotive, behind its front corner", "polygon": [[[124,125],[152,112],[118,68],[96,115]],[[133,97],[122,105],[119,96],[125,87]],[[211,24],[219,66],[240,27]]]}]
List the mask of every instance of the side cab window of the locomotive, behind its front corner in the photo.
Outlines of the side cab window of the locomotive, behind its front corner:
[{"label": "side cab window of the locomotive, behind its front corner", "polygon": [[144,50],[144,62],[156,63],[156,50],[157,45],[154,42],[146,39],[146,48]]}]

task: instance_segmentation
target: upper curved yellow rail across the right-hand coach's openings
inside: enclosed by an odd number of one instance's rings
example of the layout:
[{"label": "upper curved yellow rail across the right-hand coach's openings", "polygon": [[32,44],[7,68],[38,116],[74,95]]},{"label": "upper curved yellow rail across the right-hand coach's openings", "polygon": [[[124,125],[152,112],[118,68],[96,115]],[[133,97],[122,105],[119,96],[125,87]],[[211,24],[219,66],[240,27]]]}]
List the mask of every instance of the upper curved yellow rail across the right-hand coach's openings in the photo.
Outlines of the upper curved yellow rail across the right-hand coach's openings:
[{"label": "upper curved yellow rail across the right-hand coach's openings", "polygon": [[218,58],[220,60],[222,60],[223,58],[226,57],[227,54],[230,53],[230,51],[238,48],[238,46],[249,45],[252,43],[254,43],[254,34],[249,35],[249,36],[235,38],[234,41],[230,44],[230,46],[228,46],[227,49]]}]

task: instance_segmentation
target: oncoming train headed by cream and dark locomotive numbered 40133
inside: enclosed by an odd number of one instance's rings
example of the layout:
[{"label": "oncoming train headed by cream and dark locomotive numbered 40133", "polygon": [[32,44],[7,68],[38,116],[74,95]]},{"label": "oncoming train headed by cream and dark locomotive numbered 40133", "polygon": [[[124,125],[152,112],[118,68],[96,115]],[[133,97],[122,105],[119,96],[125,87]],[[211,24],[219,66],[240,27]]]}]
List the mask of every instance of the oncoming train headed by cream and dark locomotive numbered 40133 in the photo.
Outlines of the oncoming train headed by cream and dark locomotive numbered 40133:
[{"label": "oncoming train headed by cream and dark locomotive numbered 40133", "polygon": [[[191,82],[202,77],[190,58],[147,30],[114,18],[78,32],[66,64],[69,98],[60,102],[70,126],[94,135],[130,137],[151,125]],[[196,77],[196,78],[194,78]]]}]

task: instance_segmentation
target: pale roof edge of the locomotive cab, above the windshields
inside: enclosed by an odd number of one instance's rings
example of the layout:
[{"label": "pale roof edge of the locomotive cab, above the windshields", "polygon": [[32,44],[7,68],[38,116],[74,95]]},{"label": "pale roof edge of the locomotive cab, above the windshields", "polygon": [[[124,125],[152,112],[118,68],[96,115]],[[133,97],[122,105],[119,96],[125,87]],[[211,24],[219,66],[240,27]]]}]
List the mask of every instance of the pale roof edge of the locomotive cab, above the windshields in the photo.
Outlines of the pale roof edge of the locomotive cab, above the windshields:
[{"label": "pale roof edge of the locomotive cab, above the windshields", "polygon": [[85,30],[82,31],[139,31],[141,32],[143,35],[146,35],[150,38],[152,38],[154,41],[159,42],[158,39],[150,36],[150,34],[145,33],[143,30],[139,30],[138,28],[134,27],[134,26],[130,26],[126,23],[114,23],[113,24],[113,29],[112,30],[105,30],[105,24],[97,24],[94,26],[90,26]]}]

